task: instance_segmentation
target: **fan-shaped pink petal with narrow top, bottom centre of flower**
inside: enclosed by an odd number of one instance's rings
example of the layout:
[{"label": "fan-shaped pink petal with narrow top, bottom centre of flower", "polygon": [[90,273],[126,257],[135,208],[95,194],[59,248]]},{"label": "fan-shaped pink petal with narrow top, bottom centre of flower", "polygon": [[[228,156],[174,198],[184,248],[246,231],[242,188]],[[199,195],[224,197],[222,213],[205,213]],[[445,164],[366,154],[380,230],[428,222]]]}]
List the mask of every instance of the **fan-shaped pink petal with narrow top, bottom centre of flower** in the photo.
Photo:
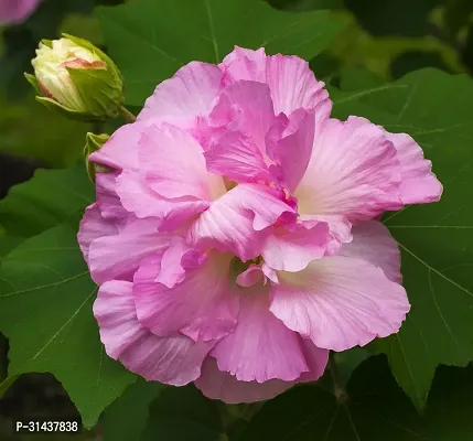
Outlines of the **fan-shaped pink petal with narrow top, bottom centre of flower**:
[{"label": "fan-shaped pink petal with narrow top, bottom centre of flower", "polygon": [[292,381],[309,372],[299,336],[269,312],[268,289],[241,290],[238,324],[211,353],[218,369],[241,381]]}]

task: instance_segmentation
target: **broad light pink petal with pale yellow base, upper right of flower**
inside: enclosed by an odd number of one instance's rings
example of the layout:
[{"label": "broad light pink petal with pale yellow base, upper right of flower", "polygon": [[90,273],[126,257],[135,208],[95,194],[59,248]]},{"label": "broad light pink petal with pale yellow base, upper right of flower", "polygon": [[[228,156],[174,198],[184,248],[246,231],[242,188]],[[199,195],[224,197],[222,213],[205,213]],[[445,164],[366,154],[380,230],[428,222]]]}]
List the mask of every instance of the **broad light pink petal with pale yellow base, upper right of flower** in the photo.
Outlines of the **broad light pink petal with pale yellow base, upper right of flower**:
[{"label": "broad light pink petal with pale yellow base, upper right of flower", "polygon": [[402,206],[397,152],[364,118],[330,119],[318,130],[312,158],[294,194],[299,213],[373,218]]}]

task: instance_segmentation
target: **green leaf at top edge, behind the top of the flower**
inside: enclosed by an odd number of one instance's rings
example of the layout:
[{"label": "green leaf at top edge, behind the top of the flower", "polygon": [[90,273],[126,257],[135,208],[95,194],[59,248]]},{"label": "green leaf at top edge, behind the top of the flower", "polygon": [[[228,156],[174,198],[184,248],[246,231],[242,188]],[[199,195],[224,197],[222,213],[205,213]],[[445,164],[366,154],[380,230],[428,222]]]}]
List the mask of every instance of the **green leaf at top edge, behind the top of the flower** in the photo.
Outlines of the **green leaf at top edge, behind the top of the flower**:
[{"label": "green leaf at top edge, behind the top of the flower", "polygon": [[261,0],[142,0],[97,14],[130,105],[191,61],[219,63],[234,45],[310,60],[341,29],[329,11],[283,12]]}]

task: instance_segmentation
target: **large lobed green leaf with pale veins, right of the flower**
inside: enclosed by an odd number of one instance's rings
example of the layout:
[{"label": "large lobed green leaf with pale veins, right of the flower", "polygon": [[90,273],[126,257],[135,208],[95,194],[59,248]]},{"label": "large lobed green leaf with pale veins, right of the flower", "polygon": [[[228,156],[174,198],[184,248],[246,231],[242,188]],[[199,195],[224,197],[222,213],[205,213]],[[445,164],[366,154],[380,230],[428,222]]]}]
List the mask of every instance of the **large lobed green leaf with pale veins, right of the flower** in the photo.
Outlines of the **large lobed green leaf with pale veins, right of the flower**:
[{"label": "large lobed green leaf with pale veins, right of the flower", "polygon": [[400,332],[378,347],[422,409],[439,364],[473,359],[473,82],[424,69],[333,98],[337,117],[365,116],[411,135],[444,186],[439,203],[408,206],[385,219],[402,252],[412,309]]}]

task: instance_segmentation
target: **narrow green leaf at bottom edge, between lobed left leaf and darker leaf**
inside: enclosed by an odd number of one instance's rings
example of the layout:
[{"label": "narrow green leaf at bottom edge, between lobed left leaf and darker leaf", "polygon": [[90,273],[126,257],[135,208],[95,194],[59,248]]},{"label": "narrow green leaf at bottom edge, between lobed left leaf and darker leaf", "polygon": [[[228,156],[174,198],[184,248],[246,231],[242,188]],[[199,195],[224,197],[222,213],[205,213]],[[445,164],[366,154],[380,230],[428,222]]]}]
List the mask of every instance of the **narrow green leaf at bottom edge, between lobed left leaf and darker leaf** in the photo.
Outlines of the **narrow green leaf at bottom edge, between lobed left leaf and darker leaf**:
[{"label": "narrow green leaf at bottom edge, between lobed left leaf and darker leaf", "polygon": [[148,422],[151,401],[165,388],[158,381],[138,377],[105,411],[104,441],[139,440]]}]

